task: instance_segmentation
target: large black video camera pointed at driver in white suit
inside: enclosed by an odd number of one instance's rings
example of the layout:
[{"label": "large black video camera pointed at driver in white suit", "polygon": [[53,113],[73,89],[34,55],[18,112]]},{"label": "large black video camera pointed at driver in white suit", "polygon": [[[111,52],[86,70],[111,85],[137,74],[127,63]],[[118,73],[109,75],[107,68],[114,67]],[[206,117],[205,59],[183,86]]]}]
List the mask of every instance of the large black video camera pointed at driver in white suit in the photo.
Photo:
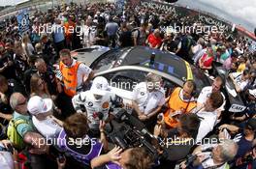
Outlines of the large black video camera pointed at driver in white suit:
[{"label": "large black video camera pointed at driver in white suit", "polygon": [[128,114],[125,109],[120,109],[114,115],[114,121],[121,126],[108,135],[112,143],[124,150],[144,147],[155,160],[158,159],[158,141],[147,131],[140,120]]}]

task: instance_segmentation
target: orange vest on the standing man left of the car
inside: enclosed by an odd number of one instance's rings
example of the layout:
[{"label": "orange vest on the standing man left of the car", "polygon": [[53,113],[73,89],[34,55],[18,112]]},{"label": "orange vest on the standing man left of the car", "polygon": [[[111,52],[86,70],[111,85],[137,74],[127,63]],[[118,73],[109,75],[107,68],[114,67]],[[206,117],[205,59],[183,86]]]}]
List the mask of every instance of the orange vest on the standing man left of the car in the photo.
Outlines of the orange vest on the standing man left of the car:
[{"label": "orange vest on the standing man left of the car", "polygon": [[80,62],[76,62],[76,65],[71,68],[66,67],[62,62],[59,63],[59,70],[64,82],[64,92],[70,97],[74,97],[77,93],[79,67]]}]

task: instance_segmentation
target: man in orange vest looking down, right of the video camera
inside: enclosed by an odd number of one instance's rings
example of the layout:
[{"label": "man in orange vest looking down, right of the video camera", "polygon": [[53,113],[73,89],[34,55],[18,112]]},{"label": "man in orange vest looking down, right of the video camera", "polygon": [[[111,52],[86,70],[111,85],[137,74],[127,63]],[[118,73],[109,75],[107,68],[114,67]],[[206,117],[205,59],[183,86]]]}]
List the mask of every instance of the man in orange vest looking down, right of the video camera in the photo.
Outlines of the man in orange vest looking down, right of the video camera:
[{"label": "man in orange vest looking down, right of the video camera", "polygon": [[178,124],[178,115],[188,113],[197,105],[194,95],[196,84],[193,80],[187,80],[183,88],[176,87],[168,100],[168,110],[164,113],[166,127],[174,128]]}]

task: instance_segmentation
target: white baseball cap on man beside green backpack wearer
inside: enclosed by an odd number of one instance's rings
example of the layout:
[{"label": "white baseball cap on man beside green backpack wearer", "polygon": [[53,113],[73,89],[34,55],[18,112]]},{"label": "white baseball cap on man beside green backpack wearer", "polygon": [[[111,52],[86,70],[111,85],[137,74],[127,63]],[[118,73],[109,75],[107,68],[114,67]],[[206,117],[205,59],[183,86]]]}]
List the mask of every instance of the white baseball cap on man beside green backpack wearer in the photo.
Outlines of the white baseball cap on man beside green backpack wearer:
[{"label": "white baseball cap on man beside green backpack wearer", "polygon": [[27,110],[32,115],[38,115],[40,113],[46,113],[52,108],[51,99],[42,99],[41,97],[35,96],[28,100]]}]

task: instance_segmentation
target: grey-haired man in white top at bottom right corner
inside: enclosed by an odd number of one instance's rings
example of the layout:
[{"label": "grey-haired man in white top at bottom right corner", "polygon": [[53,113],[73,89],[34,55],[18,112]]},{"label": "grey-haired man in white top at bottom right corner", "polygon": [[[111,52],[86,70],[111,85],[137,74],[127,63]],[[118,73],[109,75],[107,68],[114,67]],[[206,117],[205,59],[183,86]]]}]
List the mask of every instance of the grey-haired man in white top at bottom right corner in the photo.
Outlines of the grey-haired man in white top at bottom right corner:
[{"label": "grey-haired man in white top at bottom right corner", "polygon": [[197,147],[189,160],[182,162],[184,169],[223,169],[228,167],[227,162],[232,160],[238,152],[238,145],[233,140],[222,140],[217,145],[202,145]]}]

